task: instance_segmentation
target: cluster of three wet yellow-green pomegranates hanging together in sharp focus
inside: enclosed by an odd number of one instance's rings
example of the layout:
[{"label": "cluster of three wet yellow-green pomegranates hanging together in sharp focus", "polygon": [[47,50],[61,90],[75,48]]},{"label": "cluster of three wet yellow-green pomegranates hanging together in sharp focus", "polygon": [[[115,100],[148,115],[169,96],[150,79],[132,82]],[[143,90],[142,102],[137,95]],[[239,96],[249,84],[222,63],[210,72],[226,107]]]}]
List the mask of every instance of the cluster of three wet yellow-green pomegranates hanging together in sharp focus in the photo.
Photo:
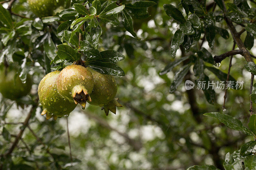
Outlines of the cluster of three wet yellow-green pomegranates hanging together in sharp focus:
[{"label": "cluster of three wet yellow-green pomegranates hanging together in sharp focus", "polygon": [[43,106],[41,115],[67,117],[79,103],[85,109],[86,102],[116,114],[116,106],[122,105],[115,98],[117,85],[114,76],[101,74],[90,67],[69,65],[61,71],[53,71],[40,81],[38,96]]}]

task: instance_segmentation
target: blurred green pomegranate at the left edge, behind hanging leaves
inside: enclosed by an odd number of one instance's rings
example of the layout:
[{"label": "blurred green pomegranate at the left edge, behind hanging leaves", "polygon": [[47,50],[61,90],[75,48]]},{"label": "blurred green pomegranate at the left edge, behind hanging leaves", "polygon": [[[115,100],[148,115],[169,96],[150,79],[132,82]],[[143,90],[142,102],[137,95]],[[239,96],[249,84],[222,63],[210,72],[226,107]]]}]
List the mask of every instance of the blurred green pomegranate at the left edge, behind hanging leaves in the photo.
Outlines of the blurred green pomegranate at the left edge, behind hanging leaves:
[{"label": "blurred green pomegranate at the left edge, behind hanging leaves", "polygon": [[4,98],[18,100],[30,92],[31,86],[32,80],[29,74],[27,74],[26,83],[22,83],[16,67],[0,68],[0,92]]}]

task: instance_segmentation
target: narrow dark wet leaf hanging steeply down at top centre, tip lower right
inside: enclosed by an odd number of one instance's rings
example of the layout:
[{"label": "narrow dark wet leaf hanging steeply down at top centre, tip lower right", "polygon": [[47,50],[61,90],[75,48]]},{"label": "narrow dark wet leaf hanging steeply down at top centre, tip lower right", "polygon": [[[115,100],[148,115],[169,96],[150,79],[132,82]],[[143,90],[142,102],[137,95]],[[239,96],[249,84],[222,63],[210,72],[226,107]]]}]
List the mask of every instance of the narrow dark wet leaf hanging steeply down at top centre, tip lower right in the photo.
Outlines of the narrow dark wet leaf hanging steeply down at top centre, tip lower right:
[{"label": "narrow dark wet leaf hanging steeply down at top centre, tip lower right", "polygon": [[132,17],[129,15],[129,13],[126,10],[122,11],[122,22],[126,31],[131,33],[132,36],[135,37],[137,40],[141,39],[137,37],[137,34],[134,32],[133,25],[132,25]]}]

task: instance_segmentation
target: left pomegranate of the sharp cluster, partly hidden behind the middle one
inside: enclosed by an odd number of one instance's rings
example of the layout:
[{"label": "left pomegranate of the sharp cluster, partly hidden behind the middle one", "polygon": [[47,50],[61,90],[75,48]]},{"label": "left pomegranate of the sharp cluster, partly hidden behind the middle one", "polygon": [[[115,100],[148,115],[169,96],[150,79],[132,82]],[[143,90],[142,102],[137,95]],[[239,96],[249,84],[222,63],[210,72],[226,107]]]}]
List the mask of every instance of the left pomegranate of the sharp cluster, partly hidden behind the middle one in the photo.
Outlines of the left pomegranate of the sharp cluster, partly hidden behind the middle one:
[{"label": "left pomegranate of the sharp cluster, partly hidden behind the middle one", "polygon": [[76,107],[75,103],[64,99],[58,92],[56,78],[59,74],[60,71],[48,73],[38,85],[38,96],[43,106],[41,115],[46,114],[46,119],[53,117],[56,120],[57,117],[67,117]]}]

